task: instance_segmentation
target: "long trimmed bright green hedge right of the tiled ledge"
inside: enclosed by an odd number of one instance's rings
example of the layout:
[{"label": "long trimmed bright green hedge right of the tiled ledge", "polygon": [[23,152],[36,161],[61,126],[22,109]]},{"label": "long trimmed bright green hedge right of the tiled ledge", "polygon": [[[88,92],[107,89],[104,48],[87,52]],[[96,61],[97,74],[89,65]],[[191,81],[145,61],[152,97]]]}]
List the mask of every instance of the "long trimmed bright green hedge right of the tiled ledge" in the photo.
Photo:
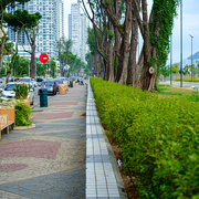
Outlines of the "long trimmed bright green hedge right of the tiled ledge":
[{"label": "long trimmed bright green hedge right of the tiled ledge", "polygon": [[102,124],[140,198],[199,198],[199,104],[90,80]]}]

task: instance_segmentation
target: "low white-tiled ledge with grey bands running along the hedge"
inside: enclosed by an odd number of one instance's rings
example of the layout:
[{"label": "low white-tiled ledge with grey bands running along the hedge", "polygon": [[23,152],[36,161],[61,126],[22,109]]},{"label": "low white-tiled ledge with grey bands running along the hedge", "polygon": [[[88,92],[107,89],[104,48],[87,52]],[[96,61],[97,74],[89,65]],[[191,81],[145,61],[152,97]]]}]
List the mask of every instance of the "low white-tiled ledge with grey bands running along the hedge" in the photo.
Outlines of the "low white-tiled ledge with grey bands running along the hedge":
[{"label": "low white-tiled ledge with grey bands running along the hedge", "polygon": [[86,106],[86,199],[126,199],[115,155],[96,112],[88,84]]}]

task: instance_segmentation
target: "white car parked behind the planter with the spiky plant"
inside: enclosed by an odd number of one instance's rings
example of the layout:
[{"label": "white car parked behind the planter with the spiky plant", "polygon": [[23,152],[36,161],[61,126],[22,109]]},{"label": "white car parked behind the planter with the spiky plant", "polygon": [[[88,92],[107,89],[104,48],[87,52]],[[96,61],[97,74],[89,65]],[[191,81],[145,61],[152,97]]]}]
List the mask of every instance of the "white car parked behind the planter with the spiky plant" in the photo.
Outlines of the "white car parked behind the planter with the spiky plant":
[{"label": "white car parked behind the planter with the spiky plant", "polygon": [[[15,84],[18,85],[22,85],[21,82],[9,82],[4,90],[2,91],[2,97],[1,100],[3,101],[9,101],[9,100],[15,100],[15,92],[13,91],[13,88],[15,88]],[[32,88],[30,88],[30,92],[28,94],[28,98],[31,105],[34,104],[34,92]]]}]

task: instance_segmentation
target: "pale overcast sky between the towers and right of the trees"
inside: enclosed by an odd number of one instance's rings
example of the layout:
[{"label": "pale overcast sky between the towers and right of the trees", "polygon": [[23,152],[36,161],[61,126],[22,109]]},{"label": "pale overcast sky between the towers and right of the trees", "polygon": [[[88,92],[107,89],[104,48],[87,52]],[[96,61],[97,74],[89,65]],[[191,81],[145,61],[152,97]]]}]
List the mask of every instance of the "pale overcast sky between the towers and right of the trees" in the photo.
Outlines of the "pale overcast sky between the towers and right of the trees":
[{"label": "pale overcast sky between the towers and right of the trees", "polygon": [[[71,3],[77,0],[63,0],[64,1],[64,34],[69,36],[69,22],[67,15],[71,13]],[[153,0],[148,0],[148,6],[151,6]],[[192,53],[199,51],[199,0],[182,0],[182,56],[187,59],[191,55],[191,38],[192,39]],[[178,17],[175,19],[175,27],[172,31],[172,62],[180,61],[180,11],[178,9]],[[170,56],[169,56],[170,57]],[[169,62],[169,59],[168,59]]]}]

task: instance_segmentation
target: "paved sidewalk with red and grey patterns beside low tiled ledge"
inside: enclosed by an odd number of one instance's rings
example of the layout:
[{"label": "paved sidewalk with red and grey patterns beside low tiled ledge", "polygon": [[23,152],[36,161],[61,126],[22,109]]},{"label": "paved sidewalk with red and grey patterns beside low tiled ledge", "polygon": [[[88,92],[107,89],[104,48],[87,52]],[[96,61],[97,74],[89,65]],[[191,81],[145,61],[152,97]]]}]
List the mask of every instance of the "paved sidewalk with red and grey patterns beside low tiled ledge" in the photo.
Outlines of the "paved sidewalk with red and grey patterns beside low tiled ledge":
[{"label": "paved sidewalk with red and grey patterns beside low tiled ledge", "polygon": [[11,130],[0,142],[0,198],[84,199],[86,86],[35,106],[35,128]]}]

